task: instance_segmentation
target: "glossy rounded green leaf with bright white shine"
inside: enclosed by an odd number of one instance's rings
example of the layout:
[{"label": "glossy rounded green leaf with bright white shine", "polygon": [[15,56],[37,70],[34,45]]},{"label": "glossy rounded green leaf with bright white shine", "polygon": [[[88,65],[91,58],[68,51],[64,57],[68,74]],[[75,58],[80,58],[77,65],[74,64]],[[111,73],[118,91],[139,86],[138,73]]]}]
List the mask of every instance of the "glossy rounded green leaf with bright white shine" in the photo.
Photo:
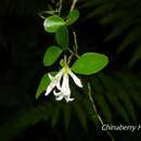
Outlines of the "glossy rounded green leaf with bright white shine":
[{"label": "glossy rounded green leaf with bright white shine", "polygon": [[63,25],[65,25],[64,20],[56,15],[49,16],[43,22],[44,30],[48,33],[55,33]]}]

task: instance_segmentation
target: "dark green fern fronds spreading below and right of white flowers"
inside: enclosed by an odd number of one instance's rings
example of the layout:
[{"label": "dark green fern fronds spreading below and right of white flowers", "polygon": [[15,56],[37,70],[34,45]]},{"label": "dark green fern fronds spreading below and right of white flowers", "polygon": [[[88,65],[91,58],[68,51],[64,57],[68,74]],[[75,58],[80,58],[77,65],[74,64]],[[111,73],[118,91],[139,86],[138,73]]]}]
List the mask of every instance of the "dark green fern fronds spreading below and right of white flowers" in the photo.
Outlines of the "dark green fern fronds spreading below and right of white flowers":
[{"label": "dark green fern fronds spreading below and right of white flowers", "polygon": [[[99,74],[90,78],[92,98],[104,123],[112,123],[119,117],[124,123],[137,121],[133,103],[136,103],[136,106],[141,107],[140,78],[141,76],[138,76],[137,80],[137,76],[132,74],[120,73]],[[56,102],[52,95],[53,101],[47,100],[42,105],[39,104],[37,107],[18,112],[17,116],[13,116],[12,119],[1,126],[0,140],[9,141],[27,127],[42,120],[51,121],[53,127],[57,123],[64,123],[66,129],[69,126],[72,116],[78,118],[85,129],[88,128],[88,120],[91,120],[95,126],[100,125],[88,99],[87,86],[80,91],[73,87],[72,93],[76,98],[72,103]],[[113,108],[115,113],[113,113]],[[5,130],[8,136],[2,136]]]}]

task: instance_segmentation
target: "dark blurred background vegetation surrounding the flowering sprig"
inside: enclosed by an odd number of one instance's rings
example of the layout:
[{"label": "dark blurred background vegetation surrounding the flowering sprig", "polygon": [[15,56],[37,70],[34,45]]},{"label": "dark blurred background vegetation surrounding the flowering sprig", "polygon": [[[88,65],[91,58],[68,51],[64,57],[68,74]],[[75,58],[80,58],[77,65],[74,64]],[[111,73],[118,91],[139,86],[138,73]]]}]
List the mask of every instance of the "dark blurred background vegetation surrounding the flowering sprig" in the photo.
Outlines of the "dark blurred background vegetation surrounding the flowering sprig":
[{"label": "dark blurred background vegetation surrounding the flowering sprig", "polygon": [[[0,141],[108,141],[88,99],[88,90],[72,87],[76,101],[56,102],[53,95],[35,100],[44,68],[42,56],[54,42],[43,30],[39,13],[57,0],[0,1]],[[64,0],[63,12],[72,1]],[[138,125],[141,120],[141,1],[79,0],[74,25],[79,52],[110,57],[89,80],[104,123]],[[87,67],[87,65],[86,65]],[[116,140],[139,141],[140,131],[112,131]]]}]

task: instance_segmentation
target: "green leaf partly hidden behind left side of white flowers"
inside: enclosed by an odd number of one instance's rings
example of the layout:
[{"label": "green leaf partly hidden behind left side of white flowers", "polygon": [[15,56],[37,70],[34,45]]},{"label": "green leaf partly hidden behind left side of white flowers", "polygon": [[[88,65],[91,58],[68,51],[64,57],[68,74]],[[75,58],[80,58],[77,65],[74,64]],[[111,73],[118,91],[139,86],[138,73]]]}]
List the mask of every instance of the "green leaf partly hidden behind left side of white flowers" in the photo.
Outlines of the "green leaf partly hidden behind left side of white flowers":
[{"label": "green leaf partly hidden behind left side of white flowers", "polygon": [[41,81],[39,84],[39,87],[37,89],[37,92],[36,92],[36,99],[38,99],[40,97],[40,94],[46,91],[48,85],[50,84],[50,78],[48,76],[48,74],[46,74],[42,78],[41,78]]}]

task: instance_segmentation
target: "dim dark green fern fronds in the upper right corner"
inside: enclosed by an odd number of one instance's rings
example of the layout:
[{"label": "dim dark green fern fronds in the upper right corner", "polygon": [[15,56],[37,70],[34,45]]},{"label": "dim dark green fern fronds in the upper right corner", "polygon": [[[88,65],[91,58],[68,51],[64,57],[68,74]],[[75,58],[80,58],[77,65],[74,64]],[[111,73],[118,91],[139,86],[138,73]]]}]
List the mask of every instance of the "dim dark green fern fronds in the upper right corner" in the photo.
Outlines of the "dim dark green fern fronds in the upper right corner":
[{"label": "dim dark green fern fronds in the upper right corner", "polygon": [[[112,25],[113,30],[107,35],[105,41],[112,40],[126,34],[117,52],[123,52],[131,46],[133,50],[129,66],[132,66],[141,59],[141,1],[140,0],[84,0],[82,8],[90,8],[91,11],[86,18],[99,17],[103,25]],[[114,48],[114,47],[113,47]]]}]

